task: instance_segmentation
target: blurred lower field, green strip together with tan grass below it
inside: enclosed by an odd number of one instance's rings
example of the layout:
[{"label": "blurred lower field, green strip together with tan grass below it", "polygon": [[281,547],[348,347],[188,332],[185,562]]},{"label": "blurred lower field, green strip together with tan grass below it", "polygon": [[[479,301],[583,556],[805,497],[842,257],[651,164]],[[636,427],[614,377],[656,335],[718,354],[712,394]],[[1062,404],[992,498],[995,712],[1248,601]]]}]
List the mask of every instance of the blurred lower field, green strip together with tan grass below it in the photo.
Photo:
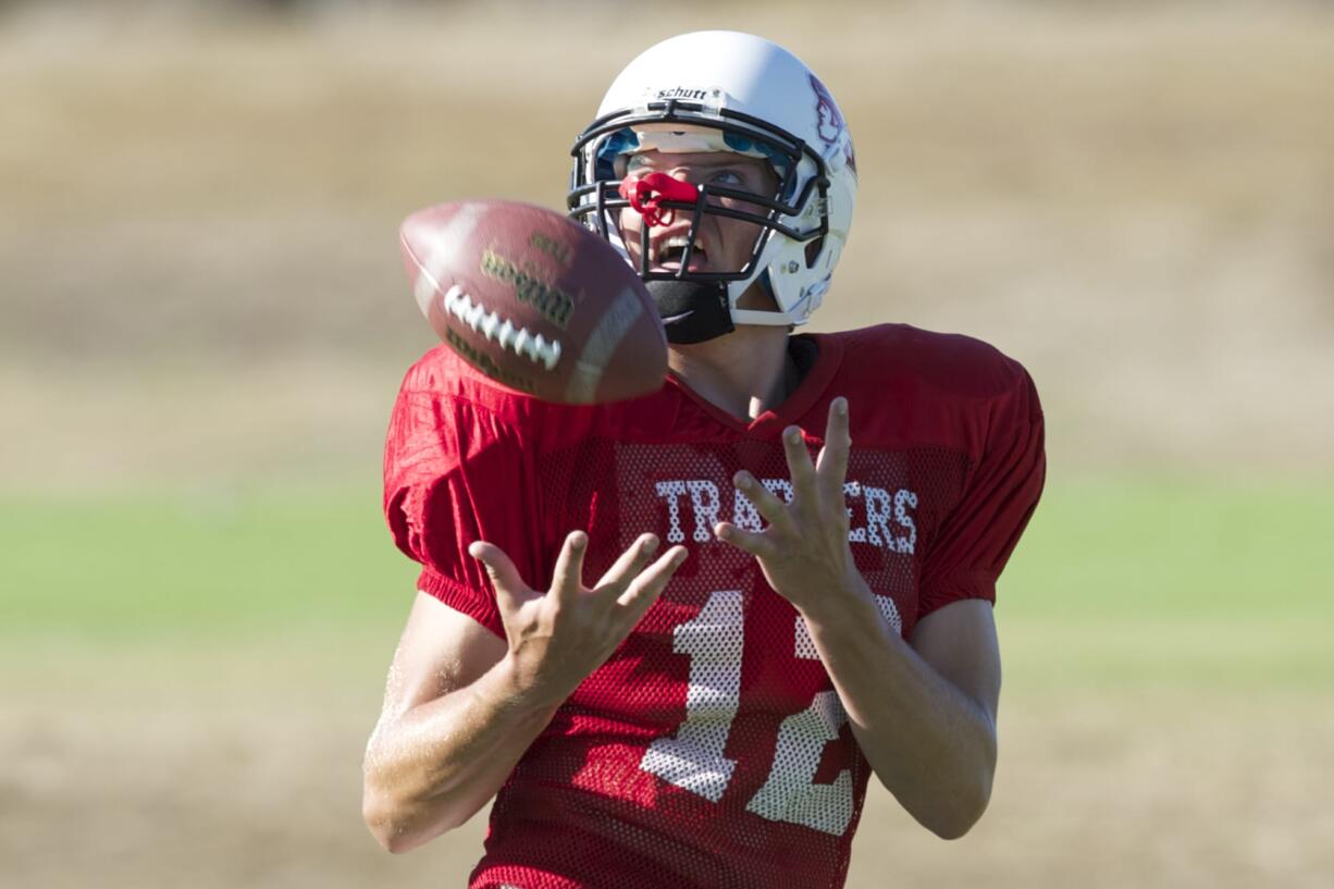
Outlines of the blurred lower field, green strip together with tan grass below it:
[{"label": "blurred lower field, green strip together with tan grass below it", "polygon": [[[1002,583],[992,810],[947,845],[874,792],[850,886],[1327,885],[1331,501],[1054,485]],[[374,489],[7,498],[0,539],[16,885],[460,885],[480,818],[390,858],[358,817],[414,578]]]}]

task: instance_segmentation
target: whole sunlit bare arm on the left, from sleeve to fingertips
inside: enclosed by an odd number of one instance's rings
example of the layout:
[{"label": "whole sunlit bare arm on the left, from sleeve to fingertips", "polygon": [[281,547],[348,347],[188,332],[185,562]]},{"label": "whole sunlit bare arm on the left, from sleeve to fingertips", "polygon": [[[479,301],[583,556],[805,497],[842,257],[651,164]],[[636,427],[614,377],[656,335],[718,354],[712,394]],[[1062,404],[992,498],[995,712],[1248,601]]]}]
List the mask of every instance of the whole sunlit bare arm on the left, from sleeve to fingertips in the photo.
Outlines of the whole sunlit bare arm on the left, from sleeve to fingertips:
[{"label": "whole sunlit bare arm on the left, from sleeve to fingertips", "polygon": [[418,594],[366,753],[363,812],[386,849],[412,849],[484,806],[686,558],[675,546],[652,561],[659,542],[644,534],[590,589],[587,546],[583,531],[566,538],[547,593],[498,546],[470,547],[492,579],[507,641]]}]

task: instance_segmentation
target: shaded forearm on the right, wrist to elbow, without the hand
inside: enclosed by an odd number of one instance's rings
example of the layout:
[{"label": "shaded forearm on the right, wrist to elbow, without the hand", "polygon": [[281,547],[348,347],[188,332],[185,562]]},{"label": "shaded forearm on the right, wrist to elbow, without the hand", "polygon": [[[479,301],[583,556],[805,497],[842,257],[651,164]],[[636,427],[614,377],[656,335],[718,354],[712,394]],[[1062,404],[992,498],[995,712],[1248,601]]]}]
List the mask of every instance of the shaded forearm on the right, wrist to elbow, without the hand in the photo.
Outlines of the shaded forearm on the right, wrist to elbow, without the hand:
[{"label": "shaded forearm on the right, wrist to elbow, without the hand", "polygon": [[923,826],[963,836],[991,797],[987,710],[886,626],[868,593],[806,623],[876,777]]}]

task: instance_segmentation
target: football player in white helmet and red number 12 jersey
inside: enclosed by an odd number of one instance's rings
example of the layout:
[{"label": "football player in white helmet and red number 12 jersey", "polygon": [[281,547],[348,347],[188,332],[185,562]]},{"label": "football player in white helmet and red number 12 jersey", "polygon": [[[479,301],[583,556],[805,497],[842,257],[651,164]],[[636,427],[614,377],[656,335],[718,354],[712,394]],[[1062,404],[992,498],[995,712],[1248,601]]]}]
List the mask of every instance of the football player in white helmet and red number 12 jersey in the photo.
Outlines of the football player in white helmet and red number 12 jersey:
[{"label": "football player in white helmet and red number 12 jersey", "polygon": [[372,832],[411,849],[494,798],[474,889],[840,886],[874,774],[963,834],[995,769],[996,577],[1043,483],[1029,375],[904,324],[792,334],[856,155],[767,40],[650,48],[574,155],[571,215],[647,282],[670,379],[568,407],[446,347],[408,371],[384,507],[422,574]]}]

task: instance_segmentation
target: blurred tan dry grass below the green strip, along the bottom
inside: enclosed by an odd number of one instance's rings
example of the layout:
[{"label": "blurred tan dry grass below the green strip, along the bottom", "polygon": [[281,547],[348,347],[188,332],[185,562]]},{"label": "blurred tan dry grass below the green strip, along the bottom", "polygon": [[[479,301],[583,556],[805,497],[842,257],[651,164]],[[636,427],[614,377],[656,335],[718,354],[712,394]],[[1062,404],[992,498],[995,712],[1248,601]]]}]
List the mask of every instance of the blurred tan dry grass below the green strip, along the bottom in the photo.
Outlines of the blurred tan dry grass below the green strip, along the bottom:
[{"label": "blurred tan dry grass below the green strip, along the bottom", "polygon": [[[41,694],[7,659],[7,885],[464,885],[482,817],[406,857],[360,825],[382,666],[368,650],[173,650],[95,670],[64,653],[41,665]],[[1327,694],[1071,687],[1010,695],[1002,729],[991,809],[960,841],[872,788],[850,889],[1325,889],[1334,876]]]}]

